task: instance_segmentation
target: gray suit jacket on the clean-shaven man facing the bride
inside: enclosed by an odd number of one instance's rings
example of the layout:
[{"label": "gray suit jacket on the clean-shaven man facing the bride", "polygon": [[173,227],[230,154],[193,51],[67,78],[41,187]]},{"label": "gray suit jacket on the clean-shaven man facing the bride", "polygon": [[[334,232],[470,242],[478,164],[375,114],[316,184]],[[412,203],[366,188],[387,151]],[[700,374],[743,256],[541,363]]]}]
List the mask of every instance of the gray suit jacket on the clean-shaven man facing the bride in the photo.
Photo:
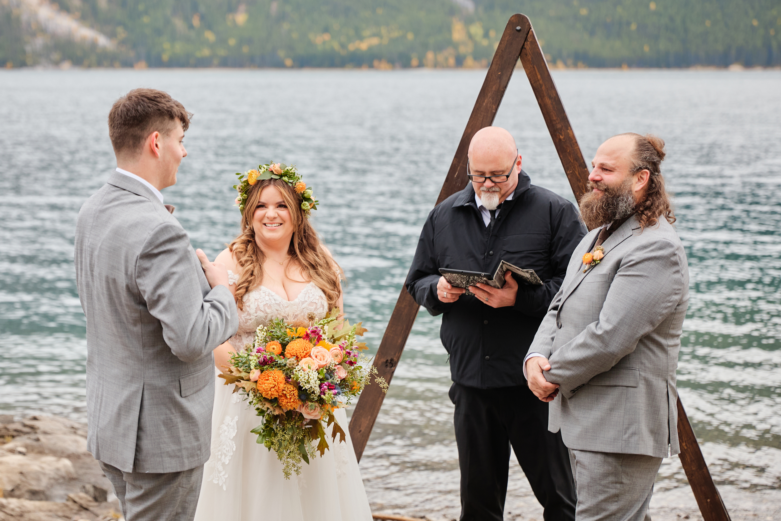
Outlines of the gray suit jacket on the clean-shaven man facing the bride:
[{"label": "gray suit jacket on the clean-shaven man facing the bride", "polygon": [[87,447],[125,472],[209,459],[212,349],[238,328],[228,288],[209,288],[179,221],[112,173],[81,207],[76,280],[87,317]]}]

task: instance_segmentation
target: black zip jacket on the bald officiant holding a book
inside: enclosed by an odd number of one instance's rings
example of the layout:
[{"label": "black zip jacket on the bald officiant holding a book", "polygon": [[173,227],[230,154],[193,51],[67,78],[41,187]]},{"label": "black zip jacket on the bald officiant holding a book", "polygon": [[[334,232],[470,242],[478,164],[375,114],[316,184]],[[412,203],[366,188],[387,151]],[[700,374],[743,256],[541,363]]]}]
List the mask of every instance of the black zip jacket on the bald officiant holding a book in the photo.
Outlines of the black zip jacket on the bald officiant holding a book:
[{"label": "black zip jacket on the bald officiant holding a book", "polygon": [[[432,315],[444,313],[440,338],[454,382],[482,389],[526,384],[526,350],[585,234],[572,203],[533,186],[523,170],[493,230],[483,223],[471,183],[431,211],[405,285]],[[544,285],[519,284],[515,305],[499,309],[473,296],[437,298],[440,268],[494,273],[501,260],[533,269]]]}]

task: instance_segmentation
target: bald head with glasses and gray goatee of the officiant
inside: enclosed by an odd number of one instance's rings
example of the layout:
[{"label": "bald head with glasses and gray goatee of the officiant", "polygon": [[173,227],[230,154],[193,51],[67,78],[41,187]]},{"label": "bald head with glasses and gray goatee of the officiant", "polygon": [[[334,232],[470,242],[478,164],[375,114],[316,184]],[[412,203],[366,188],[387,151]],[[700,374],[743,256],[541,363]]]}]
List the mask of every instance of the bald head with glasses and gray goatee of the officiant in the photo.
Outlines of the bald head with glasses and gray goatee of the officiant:
[{"label": "bald head with glasses and gray goatee of the officiant", "polygon": [[487,209],[497,208],[512,194],[518,186],[520,168],[521,156],[507,130],[485,127],[476,132],[469,143],[469,174],[475,193]]}]

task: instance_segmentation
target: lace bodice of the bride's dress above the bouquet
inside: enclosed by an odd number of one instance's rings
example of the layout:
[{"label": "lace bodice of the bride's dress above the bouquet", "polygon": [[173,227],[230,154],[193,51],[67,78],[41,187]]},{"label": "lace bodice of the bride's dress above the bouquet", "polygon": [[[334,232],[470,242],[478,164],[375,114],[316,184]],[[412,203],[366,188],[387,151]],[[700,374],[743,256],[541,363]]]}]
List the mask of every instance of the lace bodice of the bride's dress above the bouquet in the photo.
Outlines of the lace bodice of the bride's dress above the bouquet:
[{"label": "lace bodice of the bride's dress above the bouquet", "polygon": [[[236,284],[239,276],[228,270],[228,284]],[[298,297],[287,301],[266,286],[260,286],[248,291],[241,299],[244,309],[239,309],[239,329],[237,334],[228,340],[234,349],[240,350],[244,345],[255,340],[255,330],[259,326],[267,326],[273,319],[283,319],[291,326],[308,326],[312,322],[323,319],[328,313],[326,295],[314,282],[307,284]]]}]

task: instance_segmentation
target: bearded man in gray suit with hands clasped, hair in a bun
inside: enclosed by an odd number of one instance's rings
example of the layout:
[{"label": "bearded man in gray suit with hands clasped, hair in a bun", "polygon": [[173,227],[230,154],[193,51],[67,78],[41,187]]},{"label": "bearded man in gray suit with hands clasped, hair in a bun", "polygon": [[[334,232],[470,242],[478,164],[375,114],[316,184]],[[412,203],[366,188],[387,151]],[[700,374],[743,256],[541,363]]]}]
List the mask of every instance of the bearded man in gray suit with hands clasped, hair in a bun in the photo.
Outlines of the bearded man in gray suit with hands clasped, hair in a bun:
[{"label": "bearded man in gray suit with hands clasped, hair in a bun", "polygon": [[591,163],[591,232],[527,352],[576,482],[576,520],[647,516],[662,458],[679,452],[676,367],[689,271],[659,165],[664,141],[621,134]]}]

